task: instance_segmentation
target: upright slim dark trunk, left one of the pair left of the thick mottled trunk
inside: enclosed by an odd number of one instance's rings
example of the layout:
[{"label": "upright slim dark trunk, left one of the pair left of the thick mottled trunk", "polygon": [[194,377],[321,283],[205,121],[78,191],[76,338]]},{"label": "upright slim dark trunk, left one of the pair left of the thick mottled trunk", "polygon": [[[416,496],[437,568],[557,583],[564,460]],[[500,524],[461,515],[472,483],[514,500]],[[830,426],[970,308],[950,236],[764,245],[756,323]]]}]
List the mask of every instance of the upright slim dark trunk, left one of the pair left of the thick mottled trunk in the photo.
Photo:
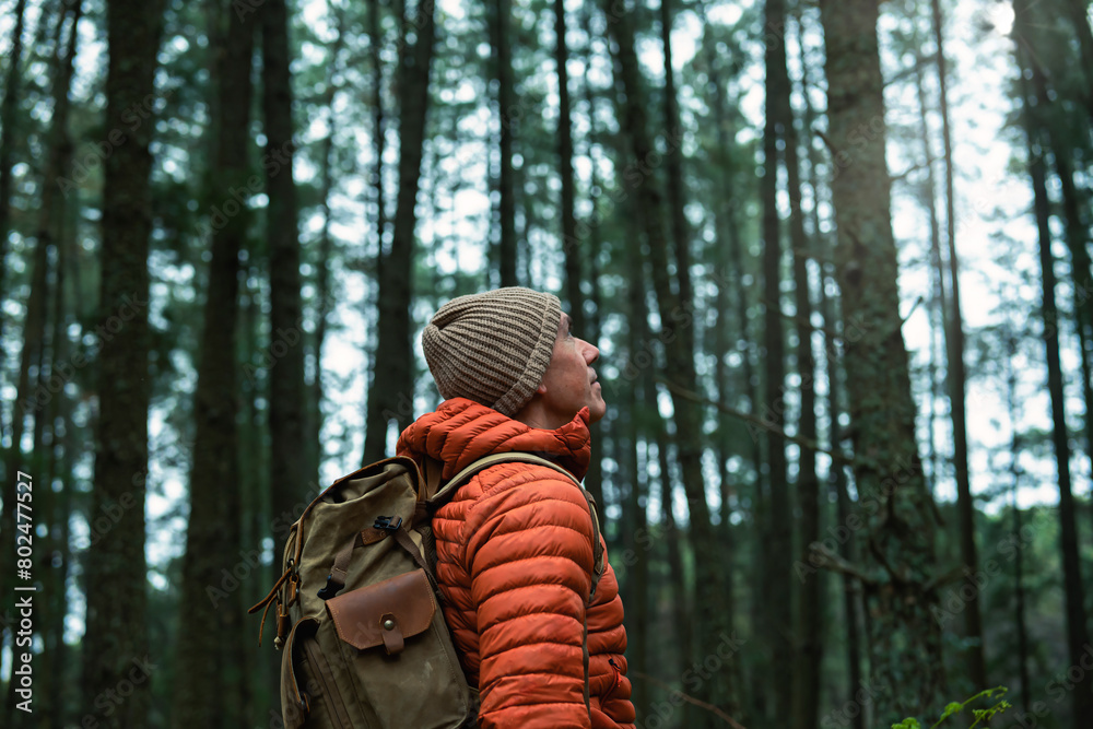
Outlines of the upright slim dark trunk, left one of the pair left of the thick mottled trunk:
[{"label": "upright slim dark trunk, left one of the pair left of the thick mottled trunk", "polygon": [[[792,574],[792,507],[786,474],[786,442],[779,433],[785,426],[786,354],[781,316],[781,225],[778,220],[778,138],[785,134],[789,109],[789,78],[785,55],[786,8],[784,0],[766,1],[766,126],[763,131],[763,292],[765,301],[764,354],[766,378],[763,393],[763,419],[774,426],[766,432],[769,473],[766,562],[763,595],[765,638],[771,646],[771,673],[774,701],[768,718],[772,725],[788,727],[792,720],[794,622],[790,575]],[[779,62],[780,59],[780,62]],[[780,129],[780,131],[779,131]]]}]

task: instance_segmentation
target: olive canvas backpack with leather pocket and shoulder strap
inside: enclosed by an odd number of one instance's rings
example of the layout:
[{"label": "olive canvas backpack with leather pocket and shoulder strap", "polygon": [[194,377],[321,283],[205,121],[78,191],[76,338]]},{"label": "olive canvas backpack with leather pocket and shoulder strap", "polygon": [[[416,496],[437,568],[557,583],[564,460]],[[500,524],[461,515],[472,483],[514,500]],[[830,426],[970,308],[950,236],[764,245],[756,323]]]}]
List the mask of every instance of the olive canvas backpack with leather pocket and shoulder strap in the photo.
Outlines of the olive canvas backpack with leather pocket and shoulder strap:
[{"label": "olive canvas backpack with leather pocket and shoulder strap", "polygon": [[[525,452],[486,456],[440,484],[410,458],[377,461],[342,477],[292,526],[282,575],[249,612],[262,610],[258,644],[275,609],[285,729],[456,729],[473,727],[478,692],[468,685],[440,609],[432,517],[479,471],[538,463],[580,487],[592,520],[593,573],[603,573],[595,501],[568,471]],[[588,706],[588,625],[583,639]],[[589,713],[590,716],[590,713]]]}]

